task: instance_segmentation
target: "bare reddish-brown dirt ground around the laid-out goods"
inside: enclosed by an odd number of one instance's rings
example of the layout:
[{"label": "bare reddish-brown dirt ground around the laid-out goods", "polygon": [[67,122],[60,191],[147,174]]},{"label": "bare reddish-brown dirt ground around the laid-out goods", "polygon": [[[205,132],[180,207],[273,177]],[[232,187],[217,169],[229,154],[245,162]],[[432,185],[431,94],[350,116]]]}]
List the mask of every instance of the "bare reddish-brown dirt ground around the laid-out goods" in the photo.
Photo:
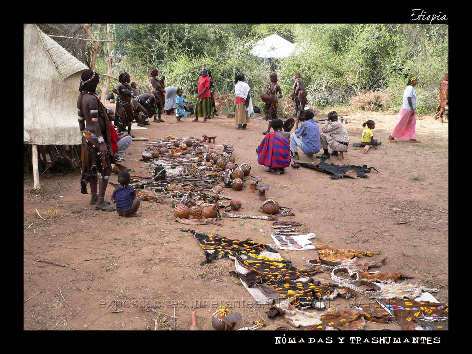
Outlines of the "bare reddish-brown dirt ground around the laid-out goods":
[{"label": "bare reddish-brown dirt ground around the laid-out goods", "polygon": [[[322,113],[315,119],[326,118],[327,112]],[[448,124],[419,117],[416,132],[421,144],[389,143],[396,115],[347,108],[339,113],[357,123],[346,125],[351,140],[347,159],[332,158],[331,162],[367,164],[379,173],[372,170],[367,178],[334,180],[312,169],[288,168],[282,176],[264,172],[265,167],[257,164],[255,148],[267,124],[254,118],[247,130],[236,130],[233,118],[214,118],[206,124],[183,118],[183,123],[177,123],[175,116],[163,115],[165,123],[151,123],[134,134],[150,141],[169,134],[217,135],[217,143],[234,144],[236,163],[249,163],[251,174],[261,175],[270,185],[267,195],[296,214],[281,219],[302,222],[305,232],[316,234],[316,243],[381,251],[369,259],[387,257],[385,265],[375,270],[414,276],[415,284],[438,287],[436,298],[447,303]],[[382,145],[364,155],[352,143],[360,142],[361,124],[368,119],[375,121],[374,134]],[[132,143],[123,164],[147,175],[139,161],[143,143]],[[303,153],[300,161],[310,162]],[[269,306],[253,304],[239,279],[228,274],[234,270],[233,261],[200,266],[205,259],[202,250],[190,233],[180,231],[189,226],[174,220],[169,200],[164,204],[144,201],[142,217],[118,218],[116,212],[95,211],[89,205],[90,194],[80,194],[79,180],[78,171],[42,174],[42,189],[35,193],[32,175],[24,175],[24,329],[143,330],[154,329],[156,319],[160,330],[189,329],[192,306],[198,327],[212,329],[211,314],[219,303],[228,301],[239,306],[233,310],[243,315],[239,327],[252,326],[260,319],[267,324],[263,329],[289,327],[280,317],[267,317]],[[110,181],[117,183],[116,174]],[[107,199],[113,189],[108,186]],[[240,213],[263,215],[258,211],[262,202],[248,190],[246,181],[243,191],[225,189],[223,195],[243,202]],[[403,221],[407,223],[394,225]],[[222,224],[190,228],[272,243],[270,221],[224,218]],[[280,250],[280,254],[302,269],[307,267],[302,258],[313,258],[313,251]],[[327,282],[330,275],[325,272],[314,278]],[[338,296],[330,306],[345,304]],[[366,323],[366,329],[382,327],[398,329],[396,324]]]}]

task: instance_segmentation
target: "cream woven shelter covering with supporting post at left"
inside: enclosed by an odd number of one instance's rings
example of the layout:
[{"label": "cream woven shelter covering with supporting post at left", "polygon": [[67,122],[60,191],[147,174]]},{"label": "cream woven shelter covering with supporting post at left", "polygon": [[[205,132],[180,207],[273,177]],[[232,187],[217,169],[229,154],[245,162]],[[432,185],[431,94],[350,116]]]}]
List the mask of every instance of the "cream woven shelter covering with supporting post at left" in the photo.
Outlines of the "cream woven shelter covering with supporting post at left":
[{"label": "cream woven shelter covering with supporting post at left", "polygon": [[37,145],[82,143],[77,122],[80,76],[87,67],[38,26],[23,29],[23,142],[33,145],[35,188]]}]

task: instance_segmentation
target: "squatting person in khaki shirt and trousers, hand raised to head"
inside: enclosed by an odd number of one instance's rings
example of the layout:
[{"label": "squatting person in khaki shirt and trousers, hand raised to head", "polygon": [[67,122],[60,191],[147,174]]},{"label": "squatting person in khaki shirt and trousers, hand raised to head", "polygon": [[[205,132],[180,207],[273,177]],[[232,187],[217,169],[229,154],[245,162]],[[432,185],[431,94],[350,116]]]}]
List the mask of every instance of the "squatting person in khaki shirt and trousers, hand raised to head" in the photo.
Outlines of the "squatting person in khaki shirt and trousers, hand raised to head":
[{"label": "squatting person in khaki shirt and trousers, hand raised to head", "polygon": [[[331,123],[331,124],[329,124]],[[337,113],[332,110],[328,113],[328,120],[321,128],[320,144],[323,148],[323,154],[317,156],[320,159],[329,159],[328,146],[333,150],[333,155],[337,156],[338,152],[346,152],[349,145],[349,136],[346,128],[341,122],[337,121]]]}]

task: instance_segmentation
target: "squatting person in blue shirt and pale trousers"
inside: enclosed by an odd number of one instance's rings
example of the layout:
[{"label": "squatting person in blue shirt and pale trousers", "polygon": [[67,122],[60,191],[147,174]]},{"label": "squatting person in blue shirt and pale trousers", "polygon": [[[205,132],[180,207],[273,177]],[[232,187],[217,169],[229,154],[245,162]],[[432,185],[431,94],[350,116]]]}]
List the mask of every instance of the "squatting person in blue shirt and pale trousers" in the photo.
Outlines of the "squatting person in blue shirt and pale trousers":
[{"label": "squatting person in blue shirt and pale trousers", "polygon": [[[303,119],[300,117],[300,119]],[[304,122],[302,126],[295,130],[295,133],[290,135],[290,151],[293,153],[292,159],[299,159],[298,147],[302,149],[303,153],[311,156],[320,151],[320,128],[313,120],[313,112],[311,110],[305,113]],[[303,138],[300,138],[303,136]]]}]

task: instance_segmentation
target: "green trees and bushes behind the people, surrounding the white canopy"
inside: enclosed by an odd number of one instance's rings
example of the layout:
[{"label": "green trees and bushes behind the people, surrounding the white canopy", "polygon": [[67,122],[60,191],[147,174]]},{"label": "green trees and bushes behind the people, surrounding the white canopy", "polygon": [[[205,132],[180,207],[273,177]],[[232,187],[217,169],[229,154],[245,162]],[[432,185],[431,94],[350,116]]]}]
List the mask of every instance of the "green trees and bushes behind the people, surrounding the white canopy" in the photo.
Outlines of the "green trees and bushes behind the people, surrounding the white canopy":
[{"label": "green trees and bushes behind the people, surrounding the white canopy", "polygon": [[[105,38],[104,24],[93,32]],[[150,89],[152,67],[166,76],[166,85],[184,89],[187,100],[202,67],[211,69],[220,94],[234,93],[234,77],[246,76],[253,104],[269,82],[261,58],[249,54],[251,44],[277,33],[295,42],[297,50],[277,60],[278,83],[285,97],[292,92],[295,72],[302,75],[309,105],[319,109],[348,104],[363,90],[388,93],[388,104],[400,107],[408,76],[419,77],[415,87],[417,111],[436,109],[438,85],[448,71],[448,26],[443,24],[113,24],[113,76],[125,69],[141,93]],[[101,43],[102,54],[106,52]],[[126,54],[121,59],[117,54]],[[107,72],[106,55],[96,69]],[[104,79],[101,79],[104,82]],[[111,87],[116,84],[112,80]],[[110,88],[111,90],[111,88]]]}]

